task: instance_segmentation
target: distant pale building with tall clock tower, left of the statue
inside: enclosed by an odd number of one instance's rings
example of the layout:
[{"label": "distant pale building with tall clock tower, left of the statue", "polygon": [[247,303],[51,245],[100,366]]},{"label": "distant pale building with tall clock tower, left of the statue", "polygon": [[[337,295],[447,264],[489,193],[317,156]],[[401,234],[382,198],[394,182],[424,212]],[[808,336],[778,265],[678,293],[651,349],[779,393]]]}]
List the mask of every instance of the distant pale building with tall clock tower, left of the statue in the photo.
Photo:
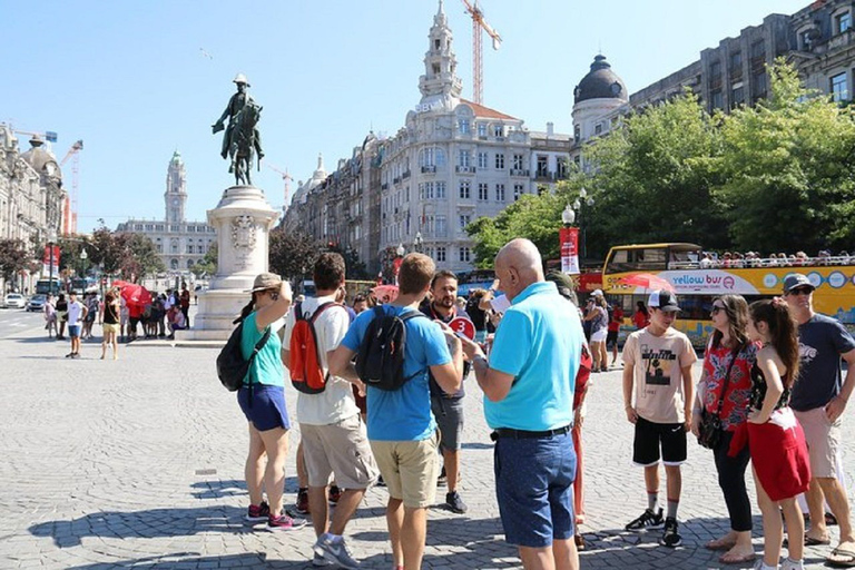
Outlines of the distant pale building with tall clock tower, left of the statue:
[{"label": "distant pale building with tall clock tower, left of the statue", "polygon": [[188,277],[216,244],[217,236],[207,222],[188,222],[187,171],[181,155],[176,150],[166,171],[164,219],[131,218],[118,225],[117,232],[141,234],[155,244],[170,277]]}]

